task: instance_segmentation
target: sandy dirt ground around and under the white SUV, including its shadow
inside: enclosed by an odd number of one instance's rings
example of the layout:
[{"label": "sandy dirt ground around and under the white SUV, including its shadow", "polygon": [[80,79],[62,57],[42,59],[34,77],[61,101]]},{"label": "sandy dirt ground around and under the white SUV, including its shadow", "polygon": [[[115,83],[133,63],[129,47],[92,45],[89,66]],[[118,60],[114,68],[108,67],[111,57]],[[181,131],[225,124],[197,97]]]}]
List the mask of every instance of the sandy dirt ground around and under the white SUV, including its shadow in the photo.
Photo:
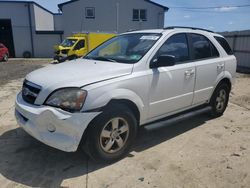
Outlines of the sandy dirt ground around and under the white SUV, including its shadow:
[{"label": "sandy dirt ground around and under the white SUV, including its shadow", "polygon": [[[0,187],[250,187],[250,75],[237,74],[224,116],[187,114],[142,128],[112,165],[50,148],[18,127],[14,101],[26,73],[48,60],[0,63]],[[53,65],[51,65],[53,66]]]}]

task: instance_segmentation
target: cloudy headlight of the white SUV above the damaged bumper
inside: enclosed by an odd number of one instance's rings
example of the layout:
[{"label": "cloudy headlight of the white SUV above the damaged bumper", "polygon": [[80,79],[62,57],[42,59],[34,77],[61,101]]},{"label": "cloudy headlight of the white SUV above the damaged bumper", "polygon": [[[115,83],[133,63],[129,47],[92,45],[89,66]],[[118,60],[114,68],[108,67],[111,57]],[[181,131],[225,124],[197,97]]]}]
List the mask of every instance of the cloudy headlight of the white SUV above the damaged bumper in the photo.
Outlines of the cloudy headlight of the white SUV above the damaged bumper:
[{"label": "cloudy headlight of the white SUV above the damaged bumper", "polygon": [[86,96],[87,91],[80,88],[65,88],[52,93],[45,104],[68,112],[76,112],[81,110]]}]

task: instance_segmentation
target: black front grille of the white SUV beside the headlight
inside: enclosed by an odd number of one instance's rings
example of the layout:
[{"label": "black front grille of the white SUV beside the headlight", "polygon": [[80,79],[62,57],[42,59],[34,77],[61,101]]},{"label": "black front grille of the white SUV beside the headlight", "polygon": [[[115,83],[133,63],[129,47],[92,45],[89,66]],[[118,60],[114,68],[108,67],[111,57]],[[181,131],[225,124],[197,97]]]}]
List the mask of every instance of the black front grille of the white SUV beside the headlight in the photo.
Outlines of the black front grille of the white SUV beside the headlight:
[{"label": "black front grille of the white SUV beside the headlight", "polygon": [[23,82],[22,97],[25,102],[34,104],[40,91],[40,86],[33,84],[27,80]]}]

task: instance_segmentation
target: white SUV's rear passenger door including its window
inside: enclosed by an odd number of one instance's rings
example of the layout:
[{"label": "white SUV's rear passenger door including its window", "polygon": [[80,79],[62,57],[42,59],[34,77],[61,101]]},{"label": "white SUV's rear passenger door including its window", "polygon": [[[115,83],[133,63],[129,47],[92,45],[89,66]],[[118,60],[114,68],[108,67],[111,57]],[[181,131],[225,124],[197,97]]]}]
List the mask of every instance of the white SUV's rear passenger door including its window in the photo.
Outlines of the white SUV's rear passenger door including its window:
[{"label": "white SUV's rear passenger door including its window", "polygon": [[207,102],[217,81],[224,76],[225,64],[214,44],[204,35],[190,33],[191,56],[196,65],[193,105]]}]

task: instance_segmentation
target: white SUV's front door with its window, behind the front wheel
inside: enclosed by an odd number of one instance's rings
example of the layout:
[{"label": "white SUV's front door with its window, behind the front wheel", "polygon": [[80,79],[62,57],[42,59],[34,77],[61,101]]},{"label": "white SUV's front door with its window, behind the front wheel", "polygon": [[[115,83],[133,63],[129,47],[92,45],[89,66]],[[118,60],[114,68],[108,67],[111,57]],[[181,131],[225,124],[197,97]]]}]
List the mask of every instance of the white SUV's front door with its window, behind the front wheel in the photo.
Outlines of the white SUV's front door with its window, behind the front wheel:
[{"label": "white SUV's front door with its window, behind the front wheel", "polygon": [[152,59],[153,63],[157,63],[160,55],[174,56],[176,64],[152,69],[149,118],[187,108],[193,100],[195,64],[190,61],[187,35],[170,36]]}]

